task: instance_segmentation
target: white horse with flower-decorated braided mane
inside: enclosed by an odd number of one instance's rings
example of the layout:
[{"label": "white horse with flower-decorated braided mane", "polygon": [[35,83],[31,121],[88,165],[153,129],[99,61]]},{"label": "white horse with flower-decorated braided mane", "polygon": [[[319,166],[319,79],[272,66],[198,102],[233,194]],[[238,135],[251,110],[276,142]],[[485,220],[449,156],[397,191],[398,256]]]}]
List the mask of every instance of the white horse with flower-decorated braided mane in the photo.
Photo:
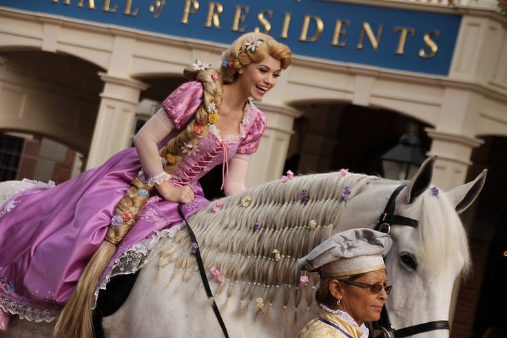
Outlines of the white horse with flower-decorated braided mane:
[{"label": "white horse with flower-decorated braided mane", "polygon": [[[486,171],[444,193],[431,187],[435,160],[426,160],[405,182],[353,173],[269,182],[219,200],[219,211],[213,202],[192,216],[189,224],[230,337],[295,337],[318,313],[313,301],[318,276],[309,275],[309,282],[300,284],[298,258],[333,233],[375,227],[400,184],[406,186],[394,198],[394,214],[419,225],[391,223],[394,244],[386,257],[393,284],[386,303],[391,324],[402,329],[447,321],[453,284],[470,266],[458,213],[475,200]],[[152,251],[125,304],[103,320],[107,337],[224,336],[191,250],[182,227],[165,238],[161,251]],[[212,277],[211,266],[223,282]],[[13,318],[6,337],[49,337],[53,324]],[[448,330],[434,328],[417,338],[448,335]]]}]

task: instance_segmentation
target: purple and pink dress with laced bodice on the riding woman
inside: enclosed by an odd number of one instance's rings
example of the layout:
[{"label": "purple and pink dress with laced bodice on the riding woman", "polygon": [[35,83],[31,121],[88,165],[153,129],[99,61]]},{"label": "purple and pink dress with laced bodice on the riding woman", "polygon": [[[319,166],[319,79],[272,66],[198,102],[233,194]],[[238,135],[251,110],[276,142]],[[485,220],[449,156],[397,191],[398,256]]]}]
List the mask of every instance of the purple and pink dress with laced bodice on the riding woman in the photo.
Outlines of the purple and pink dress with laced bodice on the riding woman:
[{"label": "purple and pink dress with laced bodice on the riding woman", "polygon": [[[175,95],[179,96],[172,100]],[[202,85],[186,83],[164,102],[176,129],[185,126],[195,109],[169,106],[183,100],[188,107],[189,96],[199,103]],[[236,140],[221,140],[219,133],[209,132],[200,140],[199,151],[185,156],[172,172],[174,186],[189,185],[194,190],[195,200],[183,206],[187,217],[209,204],[198,183],[200,177],[234,154],[251,154],[257,149],[265,117],[253,104],[247,108]],[[101,246],[116,204],[140,169],[136,149],[125,149],[101,167],[56,187],[39,184],[0,207],[2,310],[34,321],[58,317],[87,262]],[[182,222],[177,207],[178,203],[157,195],[149,198],[136,224],[118,244],[100,287],[105,288],[113,275],[133,273],[145,262],[161,234]]]}]

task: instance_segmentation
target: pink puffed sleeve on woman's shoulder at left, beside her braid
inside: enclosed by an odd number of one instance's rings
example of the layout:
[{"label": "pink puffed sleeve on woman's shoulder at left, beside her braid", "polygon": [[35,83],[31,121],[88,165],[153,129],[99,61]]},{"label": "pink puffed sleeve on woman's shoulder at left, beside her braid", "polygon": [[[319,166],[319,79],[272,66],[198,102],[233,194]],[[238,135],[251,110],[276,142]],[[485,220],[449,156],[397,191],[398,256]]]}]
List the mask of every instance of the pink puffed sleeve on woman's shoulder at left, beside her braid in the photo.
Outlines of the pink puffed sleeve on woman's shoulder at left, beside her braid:
[{"label": "pink puffed sleeve on woman's shoulder at left, beside her braid", "polygon": [[203,103],[203,84],[190,81],[180,85],[162,103],[176,130],[182,129]]}]

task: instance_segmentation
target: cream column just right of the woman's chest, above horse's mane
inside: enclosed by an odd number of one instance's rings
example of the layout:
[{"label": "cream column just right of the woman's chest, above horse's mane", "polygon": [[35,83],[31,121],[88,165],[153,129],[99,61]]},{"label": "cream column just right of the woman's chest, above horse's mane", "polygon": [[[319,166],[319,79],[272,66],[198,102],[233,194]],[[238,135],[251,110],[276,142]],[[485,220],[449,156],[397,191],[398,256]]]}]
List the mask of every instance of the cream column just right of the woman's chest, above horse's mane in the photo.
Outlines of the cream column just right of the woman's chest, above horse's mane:
[{"label": "cream column just right of the woman's chest, above horse's mane", "polygon": [[259,149],[250,158],[247,188],[276,180],[282,176],[287,149],[293,134],[294,119],[302,115],[291,107],[280,107],[265,103],[257,105],[267,118],[267,129],[262,135]]}]

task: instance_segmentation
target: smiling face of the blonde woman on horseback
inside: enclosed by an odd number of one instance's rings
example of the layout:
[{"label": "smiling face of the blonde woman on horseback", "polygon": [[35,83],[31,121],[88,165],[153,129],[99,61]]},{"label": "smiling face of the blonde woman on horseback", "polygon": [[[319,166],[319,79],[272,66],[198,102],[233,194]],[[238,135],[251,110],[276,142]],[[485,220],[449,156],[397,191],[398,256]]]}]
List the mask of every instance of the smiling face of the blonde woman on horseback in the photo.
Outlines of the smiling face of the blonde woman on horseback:
[{"label": "smiling face of the blonde woman on horseback", "polygon": [[280,60],[267,56],[259,63],[250,63],[238,70],[240,74],[238,81],[245,96],[261,101],[262,97],[275,87],[281,72]]}]

